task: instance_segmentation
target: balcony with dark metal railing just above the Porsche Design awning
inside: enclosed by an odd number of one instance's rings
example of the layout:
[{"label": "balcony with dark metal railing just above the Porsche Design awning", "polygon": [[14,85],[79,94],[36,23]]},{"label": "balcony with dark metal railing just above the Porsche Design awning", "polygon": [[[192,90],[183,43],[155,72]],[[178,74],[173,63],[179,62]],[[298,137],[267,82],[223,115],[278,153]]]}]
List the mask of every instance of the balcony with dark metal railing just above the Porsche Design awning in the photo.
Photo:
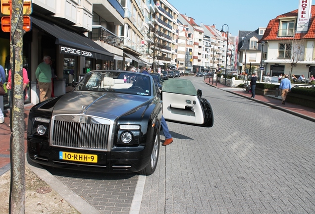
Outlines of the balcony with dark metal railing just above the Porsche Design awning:
[{"label": "balcony with dark metal railing just above the Porsche Design awning", "polygon": [[101,25],[92,26],[92,40],[103,41],[108,45],[123,49],[123,40]]}]

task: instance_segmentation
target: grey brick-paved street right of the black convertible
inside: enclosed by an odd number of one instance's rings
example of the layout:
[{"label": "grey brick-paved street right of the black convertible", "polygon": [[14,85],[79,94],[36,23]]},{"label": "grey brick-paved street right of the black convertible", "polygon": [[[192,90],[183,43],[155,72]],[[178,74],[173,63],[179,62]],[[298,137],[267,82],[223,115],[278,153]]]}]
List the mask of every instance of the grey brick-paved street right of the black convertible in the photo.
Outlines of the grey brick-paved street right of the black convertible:
[{"label": "grey brick-paved street right of the black convertible", "polygon": [[198,88],[214,126],[168,123],[174,143],[146,178],[140,213],[315,213],[314,122]]}]

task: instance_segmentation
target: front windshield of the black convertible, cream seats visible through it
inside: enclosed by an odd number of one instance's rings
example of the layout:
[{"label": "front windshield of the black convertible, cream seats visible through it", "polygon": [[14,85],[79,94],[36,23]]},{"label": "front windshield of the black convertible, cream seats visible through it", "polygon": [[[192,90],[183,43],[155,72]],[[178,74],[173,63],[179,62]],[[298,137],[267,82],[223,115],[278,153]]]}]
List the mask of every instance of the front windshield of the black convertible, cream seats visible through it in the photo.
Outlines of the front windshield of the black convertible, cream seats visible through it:
[{"label": "front windshield of the black convertible, cream seats visible through it", "polygon": [[129,71],[91,71],[78,83],[75,91],[115,92],[152,96],[150,75]]}]

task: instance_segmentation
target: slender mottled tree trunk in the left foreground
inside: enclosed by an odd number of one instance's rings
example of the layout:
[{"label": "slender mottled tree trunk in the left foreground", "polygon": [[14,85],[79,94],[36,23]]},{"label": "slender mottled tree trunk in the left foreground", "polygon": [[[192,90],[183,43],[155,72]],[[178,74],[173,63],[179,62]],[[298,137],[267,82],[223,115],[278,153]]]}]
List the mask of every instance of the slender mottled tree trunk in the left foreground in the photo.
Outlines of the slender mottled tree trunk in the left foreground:
[{"label": "slender mottled tree trunk in the left foreground", "polygon": [[12,108],[11,114],[11,187],[9,213],[25,213],[24,159],[24,96],[23,96],[23,0],[12,0],[10,63]]}]

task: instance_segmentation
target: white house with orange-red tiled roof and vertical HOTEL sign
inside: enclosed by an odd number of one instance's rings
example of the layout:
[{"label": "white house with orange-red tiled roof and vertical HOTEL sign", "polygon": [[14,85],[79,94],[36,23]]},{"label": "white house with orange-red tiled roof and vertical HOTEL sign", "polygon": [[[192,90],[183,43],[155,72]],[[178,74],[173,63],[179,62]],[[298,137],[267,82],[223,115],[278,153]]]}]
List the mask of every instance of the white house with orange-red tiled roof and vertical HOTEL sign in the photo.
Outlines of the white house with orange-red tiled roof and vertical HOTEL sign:
[{"label": "white house with orange-red tiled roof and vertical HOTEL sign", "polygon": [[271,76],[315,75],[315,21],[311,15],[315,5],[301,2],[298,9],[271,19],[260,40],[267,52],[263,65]]}]

